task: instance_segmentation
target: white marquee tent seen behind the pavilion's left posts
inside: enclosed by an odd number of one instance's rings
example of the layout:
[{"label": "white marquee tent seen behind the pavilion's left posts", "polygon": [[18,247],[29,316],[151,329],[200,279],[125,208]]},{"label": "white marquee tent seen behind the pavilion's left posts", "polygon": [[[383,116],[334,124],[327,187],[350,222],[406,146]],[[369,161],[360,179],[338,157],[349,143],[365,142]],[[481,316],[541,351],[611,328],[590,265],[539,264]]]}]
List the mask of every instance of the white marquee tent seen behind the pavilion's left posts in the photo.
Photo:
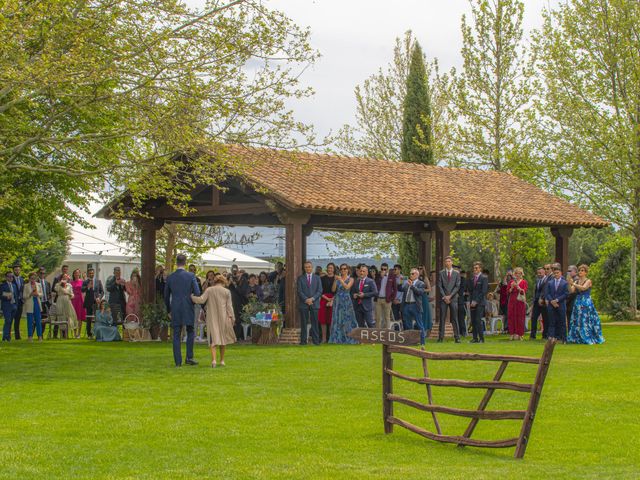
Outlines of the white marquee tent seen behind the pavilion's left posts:
[{"label": "white marquee tent seen behind the pavilion's left posts", "polygon": [[[126,247],[109,235],[110,221],[99,218],[89,221],[95,229],[79,225],[71,229],[69,254],[63,263],[69,265],[70,272],[76,268],[85,272],[92,267],[96,269],[97,278],[103,282],[113,273],[114,267],[120,267],[122,276],[129,278],[135,268],[140,268],[140,257],[130,254]],[[200,270],[228,271],[234,264],[249,273],[273,269],[273,265],[265,260],[224,247],[213,249],[202,255],[200,261],[190,263],[195,263]]]}]

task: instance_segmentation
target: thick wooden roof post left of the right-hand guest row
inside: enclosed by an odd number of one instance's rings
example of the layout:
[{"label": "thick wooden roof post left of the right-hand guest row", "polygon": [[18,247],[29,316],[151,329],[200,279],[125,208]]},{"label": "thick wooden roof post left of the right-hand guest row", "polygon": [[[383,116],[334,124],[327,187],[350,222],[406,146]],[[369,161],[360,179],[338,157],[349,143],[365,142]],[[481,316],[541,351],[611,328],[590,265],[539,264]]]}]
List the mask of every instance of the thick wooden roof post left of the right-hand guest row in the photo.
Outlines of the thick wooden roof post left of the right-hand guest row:
[{"label": "thick wooden roof post left of the right-hand guest row", "polygon": [[286,232],[285,324],[287,328],[299,328],[296,280],[302,274],[302,264],[304,262],[303,226],[309,221],[309,216],[281,212],[278,217],[285,225]]}]

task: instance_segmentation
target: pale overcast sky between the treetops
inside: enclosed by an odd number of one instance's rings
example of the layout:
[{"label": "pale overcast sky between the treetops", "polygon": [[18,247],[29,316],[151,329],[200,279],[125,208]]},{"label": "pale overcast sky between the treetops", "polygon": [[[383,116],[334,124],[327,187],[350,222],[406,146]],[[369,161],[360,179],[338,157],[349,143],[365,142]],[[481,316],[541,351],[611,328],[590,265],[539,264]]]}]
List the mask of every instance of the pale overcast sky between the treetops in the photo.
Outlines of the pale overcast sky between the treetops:
[{"label": "pale overcast sky between the treetops", "polygon": [[[188,0],[203,7],[204,0]],[[525,30],[541,25],[542,8],[559,0],[525,0]],[[316,91],[292,108],[298,119],[315,126],[319,137],[354,121],[354,87],[386,67],[396,37],[412,30],[427,57],[442,70],[459,67],[460,19],[468,0],[272,0],[266,5],[311,29],[311,42],[322,57],[303,75]]]}]

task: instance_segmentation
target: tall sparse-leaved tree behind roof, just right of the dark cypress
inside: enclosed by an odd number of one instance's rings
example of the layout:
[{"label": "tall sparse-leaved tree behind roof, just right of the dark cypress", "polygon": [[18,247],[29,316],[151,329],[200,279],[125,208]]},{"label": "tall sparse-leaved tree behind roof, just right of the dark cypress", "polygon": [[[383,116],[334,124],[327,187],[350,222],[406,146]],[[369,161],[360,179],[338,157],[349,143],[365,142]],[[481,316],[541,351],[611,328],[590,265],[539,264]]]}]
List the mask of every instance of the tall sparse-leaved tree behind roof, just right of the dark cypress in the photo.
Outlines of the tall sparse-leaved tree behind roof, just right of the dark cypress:
[{"label": "tall sparse-leaved tree behind roof, just right of the dark cypress", "polygon": [[[508,171],[522,176],[532,69],[525,48],[520,0],[472,0],[462,17],[462,70],[452,73],[452,166]],[[493,234],[494,265],[501,274],[502,234]]]}]

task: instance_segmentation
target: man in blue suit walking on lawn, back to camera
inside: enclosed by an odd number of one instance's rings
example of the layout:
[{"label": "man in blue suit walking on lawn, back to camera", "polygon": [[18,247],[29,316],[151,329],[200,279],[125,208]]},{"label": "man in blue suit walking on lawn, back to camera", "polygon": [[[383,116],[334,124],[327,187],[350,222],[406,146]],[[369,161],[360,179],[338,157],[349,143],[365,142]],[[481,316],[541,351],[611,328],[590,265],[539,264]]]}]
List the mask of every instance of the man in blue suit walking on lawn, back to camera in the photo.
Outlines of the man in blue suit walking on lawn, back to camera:
[{"label": "man in blue suit walking on lawn, back to camera", "polygon": [[173,329],[173,359],[176,367],[182,366],[182,352],[180,351],[180,334],[182,327],[187,329],[187,365],[197,365],[193,358],[193,302],[191,295],[200,295],[200,288],[196,276],[185,270],[187,257],[180,254],[176,257],[176,271],[167,278],[164,287],[164,303],[171,317]]}]

